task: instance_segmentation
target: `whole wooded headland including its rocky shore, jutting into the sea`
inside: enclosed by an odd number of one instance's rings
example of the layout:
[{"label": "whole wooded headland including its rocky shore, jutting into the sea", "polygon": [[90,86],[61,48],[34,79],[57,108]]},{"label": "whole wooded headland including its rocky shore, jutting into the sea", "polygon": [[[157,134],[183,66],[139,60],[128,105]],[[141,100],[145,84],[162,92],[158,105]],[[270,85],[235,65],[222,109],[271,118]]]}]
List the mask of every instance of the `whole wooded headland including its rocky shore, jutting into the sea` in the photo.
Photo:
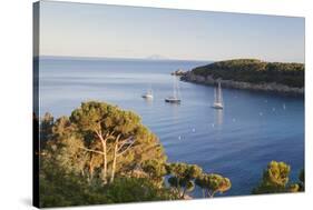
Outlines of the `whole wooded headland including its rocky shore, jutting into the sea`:
[{"label": "whole wooded headland including its rocky shore, jutting into the sea", "polygon": [[218,61],[179,73],[183,81],[223,87],[304,94],[304,64],[257,59]]}]

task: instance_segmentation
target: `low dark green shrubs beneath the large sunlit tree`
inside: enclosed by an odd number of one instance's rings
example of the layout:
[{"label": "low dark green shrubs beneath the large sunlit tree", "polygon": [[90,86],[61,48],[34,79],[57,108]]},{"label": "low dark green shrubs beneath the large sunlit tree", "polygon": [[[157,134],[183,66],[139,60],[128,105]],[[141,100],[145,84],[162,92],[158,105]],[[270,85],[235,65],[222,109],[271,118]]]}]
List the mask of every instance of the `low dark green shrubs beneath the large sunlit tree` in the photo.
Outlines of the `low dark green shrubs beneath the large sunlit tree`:
[{"label": "low dark green shrubs beneath the large sunlit tree", "polygon": [[117,178],[102,186],[101,180],[92,184],[76,174],[60,171],[41,173],[40,207],[68,207],[136,201],[173,200],[168,189],[156,188],[148,179]]}]

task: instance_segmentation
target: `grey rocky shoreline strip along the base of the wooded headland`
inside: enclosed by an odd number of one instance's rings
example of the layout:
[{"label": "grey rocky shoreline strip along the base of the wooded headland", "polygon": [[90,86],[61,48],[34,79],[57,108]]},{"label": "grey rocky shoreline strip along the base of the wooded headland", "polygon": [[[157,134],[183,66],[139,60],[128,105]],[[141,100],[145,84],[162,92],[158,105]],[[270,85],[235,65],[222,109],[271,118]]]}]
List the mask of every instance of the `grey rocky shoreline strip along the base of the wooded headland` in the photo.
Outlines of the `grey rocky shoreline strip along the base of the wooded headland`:
[{"label": "grey rocky shoreline strip along the base of the wooded headland", "polygon": [[200,84],[207,84],[207,86],[214,86],[216,84],[217,81],[219,81],[222,87],[224,88],[246,89],[246,90],[255,90],[255,91],[271,91],[271,92],[278,92],[284,94],[293,94],[293,96],[304,94],[304,88],[288,87],[276,82],[251,83],[251,82],[242,82],[242,81],[234,81],[234,80],[214,79],[209,74],[207,77],[204,77],[204,76],[195,74],[193,71],[186,71],[182,73],[180,80],[200,83]]}]

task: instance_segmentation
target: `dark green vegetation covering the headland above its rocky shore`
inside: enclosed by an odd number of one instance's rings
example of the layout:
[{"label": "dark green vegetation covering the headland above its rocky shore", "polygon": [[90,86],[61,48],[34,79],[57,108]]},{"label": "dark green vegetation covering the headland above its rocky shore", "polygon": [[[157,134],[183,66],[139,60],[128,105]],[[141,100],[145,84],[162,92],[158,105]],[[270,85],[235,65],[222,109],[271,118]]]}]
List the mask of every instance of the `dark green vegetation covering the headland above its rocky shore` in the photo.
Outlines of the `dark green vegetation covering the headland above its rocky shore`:
[{"label": "dark green vegetation covering the headland above its rocky shore", "polygon": [[199,76],[214,79],[252,83],[276,82],[288,87],[304,87],[304,64],[264,62],[256,59],[236,59],[214,62],[192,70]]}]

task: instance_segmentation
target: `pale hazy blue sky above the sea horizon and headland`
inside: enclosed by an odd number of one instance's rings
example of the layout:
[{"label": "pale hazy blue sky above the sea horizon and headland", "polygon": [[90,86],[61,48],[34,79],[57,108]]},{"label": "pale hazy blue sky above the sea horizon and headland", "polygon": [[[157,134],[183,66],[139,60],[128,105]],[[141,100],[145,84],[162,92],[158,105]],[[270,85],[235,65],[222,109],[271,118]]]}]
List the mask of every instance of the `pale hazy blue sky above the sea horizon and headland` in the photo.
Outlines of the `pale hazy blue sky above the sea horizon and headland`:
[{"label": "pale hazy blue sky above the sea horizon and headland", "polygon": [[41,1],[40,56],[304,62],[304,19]]}]

